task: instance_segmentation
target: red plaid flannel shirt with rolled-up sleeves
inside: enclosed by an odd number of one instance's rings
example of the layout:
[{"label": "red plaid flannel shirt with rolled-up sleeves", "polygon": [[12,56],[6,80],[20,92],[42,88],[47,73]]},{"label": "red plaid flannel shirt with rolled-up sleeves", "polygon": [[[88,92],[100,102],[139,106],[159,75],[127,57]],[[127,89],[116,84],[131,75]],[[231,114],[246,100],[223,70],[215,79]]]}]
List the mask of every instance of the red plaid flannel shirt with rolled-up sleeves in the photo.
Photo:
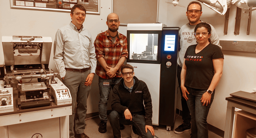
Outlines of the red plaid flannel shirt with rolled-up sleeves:
[{"label": "red plaid flannel shirt with rolled-up sleeves", "polygon": [[[121,57],[128,58],[126,36],[119,32],[117,33],[118,37],[116,37],[114,41],[112,41],[108,30],[98,34],[94,41],[96,58],[103,57],[108,67],[115,67]],[[98,61],[95,71],[99,77],[103,79],[111,79]],[[118,71],[120,72],[120,69]],[[117,73],[116,77],[121,77],[121,73]]]}]

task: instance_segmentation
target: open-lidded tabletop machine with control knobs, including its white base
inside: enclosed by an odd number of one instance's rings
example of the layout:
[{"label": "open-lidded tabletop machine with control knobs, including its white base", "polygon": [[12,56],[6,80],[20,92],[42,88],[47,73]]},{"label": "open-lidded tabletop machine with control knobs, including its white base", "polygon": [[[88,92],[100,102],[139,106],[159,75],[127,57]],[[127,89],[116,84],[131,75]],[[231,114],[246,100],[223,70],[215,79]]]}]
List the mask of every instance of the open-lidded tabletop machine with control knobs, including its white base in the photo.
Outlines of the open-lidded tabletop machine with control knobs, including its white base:
[{"label": "open-lidded tabletop machine with control knobs, including its white base", "polygon": [[[52,48],[51,37],[36,36],[3,36],[4,63],[0,65],[0,120],[8,119],[11,122],[0,122],[1,137],[69,137],[68,116],[72,114],[72,98],[69,89],[57,78],[58,73],[48,69]],[[54,111],[57,111],[54,112]],[[64,113],[62,113],[65,111]],[[40,114],[38,114],[40,112]],[[62,121],[58,117],[62,117]],[[66,117],[67,116],[67,117]],[[53,122],[53,119],[62,125],[59,132],[47,133],[44,128],[36,129],[34,123]],[[20,124],[23,123],[23,124]],[[6,127],[8,126],[8,127]],[[13,126],[13,127],[11,127]],[[35,128],[33,131],[19,129],[11,133],[15,126]],[[63,129],[64,126],[64,129]],[[48,127],[48,126],[47,126]],[[60,134],[60,131],[62,134]],[[65,132],[67,131],[67,132]],[[8,133],[6,133],[8,132]],[[35,132],[40,132],[33,135]],[[24,135],[20,135],[25,133]],[[53,133],[53,132],[52,132]],[[39,135],[40,134],[40,135]]]}]

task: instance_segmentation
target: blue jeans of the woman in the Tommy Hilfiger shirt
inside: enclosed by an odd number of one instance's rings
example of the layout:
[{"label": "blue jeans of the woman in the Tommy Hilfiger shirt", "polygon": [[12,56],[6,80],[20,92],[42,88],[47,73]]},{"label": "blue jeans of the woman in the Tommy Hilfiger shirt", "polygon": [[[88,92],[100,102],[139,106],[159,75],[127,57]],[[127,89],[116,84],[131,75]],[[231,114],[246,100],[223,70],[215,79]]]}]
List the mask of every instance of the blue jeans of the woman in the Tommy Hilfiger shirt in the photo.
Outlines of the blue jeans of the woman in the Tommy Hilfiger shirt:
[{"label": "blue jeans of the woman in the Tommy Hilfiger shirt", "polygon": [[207,90],[187,86],[186,88],[189,91],[187,104],[191,113],[191,138],[208,138],[207,116],[213,102],[215,90],[211,95],[211,103],[207,106],[202,106],[203,103],[201,103],[200,99]]}]

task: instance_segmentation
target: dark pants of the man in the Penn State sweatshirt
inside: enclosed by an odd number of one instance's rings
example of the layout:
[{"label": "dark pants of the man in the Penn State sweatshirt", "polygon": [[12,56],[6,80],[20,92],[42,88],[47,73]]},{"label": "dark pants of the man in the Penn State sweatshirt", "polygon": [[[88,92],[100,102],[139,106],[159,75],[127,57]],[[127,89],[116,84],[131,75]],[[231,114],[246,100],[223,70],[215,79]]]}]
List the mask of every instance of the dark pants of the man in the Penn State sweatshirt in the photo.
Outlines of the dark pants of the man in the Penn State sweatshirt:
[{"label": "dark pants of the man in the Penn State sweatshirt", "polygon": [[[180,86],[180,73],[181,73],[181,70],[182,70],[182,67],[180,67],[178,65],[178,67],[177,67],[177,78],[178,78],[179,86]],[[183,122],[184,122],[185,125],[190,126],[191,125],[191,123],[190,123],[191,116],[190,116],[190,112],[189,112],[189,107],[187,105],[186,99],[182,96],[181,88],[180,88],[180,94],[181,94],[181,106],[182,106],[182,119],[183,119]]]}]

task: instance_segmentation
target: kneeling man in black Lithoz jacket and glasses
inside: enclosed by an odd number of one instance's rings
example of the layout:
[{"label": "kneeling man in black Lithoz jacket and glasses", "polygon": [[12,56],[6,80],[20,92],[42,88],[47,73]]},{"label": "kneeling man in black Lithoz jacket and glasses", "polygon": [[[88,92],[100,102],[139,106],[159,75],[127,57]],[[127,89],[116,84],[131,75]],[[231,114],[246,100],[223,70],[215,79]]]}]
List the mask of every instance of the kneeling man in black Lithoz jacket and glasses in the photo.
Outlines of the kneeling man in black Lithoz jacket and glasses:
[{"label": "kneeling man in black Lithoz jacket and glasses", "polygon": [[152,127],[152,103],[148,87],[134,76],[133,66],[130,64],[121,67],[121,73],[123,79],[114,86],[112,94],[110,125],[114,138],[122,138],[120,124],[133,125],[134,133],[142,138],[153,138],[155,132]]}]

